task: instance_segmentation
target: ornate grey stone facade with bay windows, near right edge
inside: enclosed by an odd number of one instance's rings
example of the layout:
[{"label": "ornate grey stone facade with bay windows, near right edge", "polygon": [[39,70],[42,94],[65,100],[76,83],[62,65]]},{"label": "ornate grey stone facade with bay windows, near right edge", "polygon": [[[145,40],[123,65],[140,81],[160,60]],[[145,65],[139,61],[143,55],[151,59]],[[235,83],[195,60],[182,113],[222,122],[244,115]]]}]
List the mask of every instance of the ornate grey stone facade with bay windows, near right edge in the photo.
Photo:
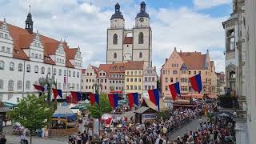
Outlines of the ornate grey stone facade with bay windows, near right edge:
[{"label": "ornate grey stone facade with bay windows, near right edge", "polygon": [[[245,0],[233,0],[233,11],[225,22],[226,87],[238,98],[235,112],[236,142],[249,143],[246,123],[246,14]],[[254,39],[255,40],[255,39]]]}]

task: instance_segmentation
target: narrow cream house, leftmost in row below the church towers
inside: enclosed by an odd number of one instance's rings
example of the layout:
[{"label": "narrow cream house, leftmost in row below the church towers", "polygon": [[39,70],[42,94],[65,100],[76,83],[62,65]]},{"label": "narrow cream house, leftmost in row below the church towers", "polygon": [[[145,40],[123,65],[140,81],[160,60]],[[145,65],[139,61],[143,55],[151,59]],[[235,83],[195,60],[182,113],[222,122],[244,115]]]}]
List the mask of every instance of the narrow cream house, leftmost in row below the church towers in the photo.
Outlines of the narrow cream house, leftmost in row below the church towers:
[{"label": "narrow cream house, leftmost in row below the church towers", "polygon": [[98,67],[87,66],[86,69],[82,69],[82,79],[81,79],[81,91],[83,93],[95,93],[94,84],[96,83],[96,77],[98,74]]}]

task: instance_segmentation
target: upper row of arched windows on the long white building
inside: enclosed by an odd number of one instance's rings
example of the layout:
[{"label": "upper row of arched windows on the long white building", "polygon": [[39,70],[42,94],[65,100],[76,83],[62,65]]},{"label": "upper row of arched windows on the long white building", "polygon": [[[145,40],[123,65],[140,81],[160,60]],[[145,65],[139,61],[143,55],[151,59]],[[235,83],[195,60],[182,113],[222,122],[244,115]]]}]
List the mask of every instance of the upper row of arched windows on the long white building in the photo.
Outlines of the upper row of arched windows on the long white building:
[{"label": "upper row of arched windows on the long white building", "polygon": [[[5,62],[3,62],[3,61],[0,61],[0,70],[5,70]],[[14,70],[14,62],[10,62],[10,70]],[[23,71],[22,63],[18,64],[18,71]],[[39,67],[38,66],[34,66],[34,73],[38,73],[38,71],[39,71]],[[42,66],[41,67],[41,74],[45,74],[45,71],[46,71],[45,67]],[[26,65],[26,72],[28,72],[28,73],[31,72],[31,66],[29,64]],[[48,73],[49,74],[51,73],[50,67],[47,70],[47,74]],[[54,68],[54,74],[55,75],[57,74],[57,69],[56,68]],[[62,75],[62,70],[61,69],[58,70],[58,75],[60,75],[60,76]],[[66,70],[64,70],[64,76],[66,76]],[[73,71],[73,77],[75,77],[75,76],[76,76],[75,75],[75,71]],[[69,70],[69,77],[71,77],[71,71],[70,70]],[[80,73],[79,72],[77,72],[77,77],[78,78],[80,77]]]}]

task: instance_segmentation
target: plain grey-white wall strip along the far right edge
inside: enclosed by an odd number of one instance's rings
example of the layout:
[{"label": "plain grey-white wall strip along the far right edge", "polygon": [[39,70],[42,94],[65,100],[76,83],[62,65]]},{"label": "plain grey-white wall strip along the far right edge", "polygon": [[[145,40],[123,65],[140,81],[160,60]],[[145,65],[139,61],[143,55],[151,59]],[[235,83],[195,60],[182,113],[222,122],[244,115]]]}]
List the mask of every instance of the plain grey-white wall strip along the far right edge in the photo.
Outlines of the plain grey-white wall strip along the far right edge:
[{"label": "plain grey-white wall strip along the far right edge", "polygon": [[250,144],[256,142],[256,1],[246,0],[246,102]]}]

